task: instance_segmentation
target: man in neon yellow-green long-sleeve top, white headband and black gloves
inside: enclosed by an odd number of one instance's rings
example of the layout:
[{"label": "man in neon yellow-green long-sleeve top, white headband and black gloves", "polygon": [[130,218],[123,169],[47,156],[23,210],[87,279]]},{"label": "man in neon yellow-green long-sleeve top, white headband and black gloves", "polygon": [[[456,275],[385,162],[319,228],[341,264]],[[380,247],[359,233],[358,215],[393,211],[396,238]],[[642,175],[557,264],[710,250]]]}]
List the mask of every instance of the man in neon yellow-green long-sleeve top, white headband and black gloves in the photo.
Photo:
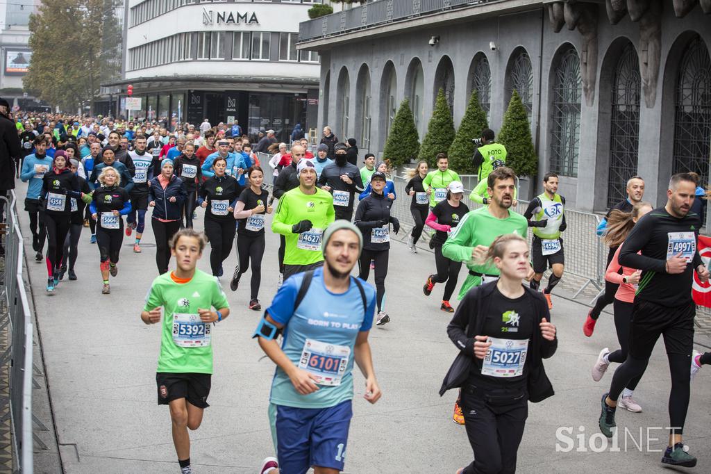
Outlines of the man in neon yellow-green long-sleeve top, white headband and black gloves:
[{"label": "man in neon yellow-green long-sleeve top, white headband and black gloves", "polygon": [[316,187],[314,162],[301,159],[296,173],[299,187],[282,195],[272,221],[272,231],[286,238],[284,281],[323,264],[321,237],[336,216],[331,193]]}]

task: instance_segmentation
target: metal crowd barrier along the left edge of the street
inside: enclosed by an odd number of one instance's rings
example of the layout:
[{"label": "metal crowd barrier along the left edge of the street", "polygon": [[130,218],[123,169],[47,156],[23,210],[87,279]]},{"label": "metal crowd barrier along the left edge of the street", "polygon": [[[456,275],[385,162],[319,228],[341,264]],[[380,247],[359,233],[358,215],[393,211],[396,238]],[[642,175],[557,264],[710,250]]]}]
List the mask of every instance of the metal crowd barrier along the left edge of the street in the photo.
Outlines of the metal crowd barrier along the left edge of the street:
[{"label": "metal crowd barrier along the left edge of the street", "polygon": [[[27,293],[23,282],[23,239],[17,219],[17,196],[0,196],[5,204],[6,238],[5,268],[0,284],[0,330],[8,327],[9,347],[0,354],[0,367],[10,364],[10,393],[0,396],[0,407],[10,410],[2,421],[11,418],[14,471],[33,473],[33,415],[32,415],[32,322]],[[37,421],[38,422],[38,421]],[[38,423],[41,425],[41,423]],[[38,440],[39,441],[39,440]],[[41,443],[42,444],[42,443]]]}]

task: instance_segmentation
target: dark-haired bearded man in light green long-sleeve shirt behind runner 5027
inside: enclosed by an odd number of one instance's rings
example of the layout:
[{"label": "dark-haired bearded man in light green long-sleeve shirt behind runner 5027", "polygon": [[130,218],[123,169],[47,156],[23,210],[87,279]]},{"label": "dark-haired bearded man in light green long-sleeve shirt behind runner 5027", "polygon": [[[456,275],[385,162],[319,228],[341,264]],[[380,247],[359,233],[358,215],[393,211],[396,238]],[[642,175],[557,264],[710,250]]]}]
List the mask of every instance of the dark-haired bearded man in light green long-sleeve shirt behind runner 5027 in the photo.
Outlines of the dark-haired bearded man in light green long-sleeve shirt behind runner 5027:
[{"label": "dark-haired bearded man in light green long-sleeve shirt behind runner 5027", "polygon": [[515,177],[513,170],[507,167],[491,172],[487,178],[488,194],[491,196],[488,206],[469,211],[442,246],[442,255],[465,262],[466,268],[469,268],[469,276],[459,290],[460,300],[471,288],[498,278],[496,266],[478,263],[496,237],[505,233],[526,236],[528,221],[510,209]]}]

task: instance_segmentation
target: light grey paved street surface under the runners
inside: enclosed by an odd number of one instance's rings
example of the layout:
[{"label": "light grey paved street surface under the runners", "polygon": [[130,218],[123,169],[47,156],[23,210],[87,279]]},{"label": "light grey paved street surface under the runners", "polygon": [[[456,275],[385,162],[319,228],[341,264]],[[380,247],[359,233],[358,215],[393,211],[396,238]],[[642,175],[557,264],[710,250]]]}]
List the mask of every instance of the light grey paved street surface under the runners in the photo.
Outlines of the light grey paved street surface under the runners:
[{"label": "light grey paved street surface under the runners", "polygon": [[[23,191],[21,184],[18,197]],[[20,214],[23,231],[30,236],[26,214]],[[201,225],[202,211],[198,214]],[[30,241],[26,237],[26,248]],[[43,288],[46,265],[28,263],[64,468],[68,473],[178,473],[168,409],[156,405],[159,327],[139,320],[144,295],[157,273],[154,248],[146,245],[136,255],[133,240],[124,240],[118,277],[112,279],[112,294],[107,296],[101,294],[98,250],[88,241],[85,228],[76,267],[79,280],[64,280],[55,295],[46,295]],[[152,241],[149,225],[144,243]],[[277,236],[267,231],[260,293],[264,307],[277,283],[278,245]],[[225,264],[225,287],[235,260],[233,253]],[[208,270],[207,255],[199,266]],[[413,256],[402,243],[392,243],[385,305],[392,322],[374,328],[370,337],[384,395],[370,406],[362,398],[363,377],[355,376],[348,473],[454,473],[471,461],[464,428],[451,421],[456,394],[437,394],[456,349],[445,332],[450,317],[439,310],[442,285],[429,298],[422,295],[432,271],[431,253]],[[460,282],[464,275],[463,270]],[[267,397],[274,366],[260,360],[262,352],[251,339],[260,314],[247,309],[248,287],[249,278],[243,278],[236,293],[228,290],[232,314],[215,328],[211,406],[201,428],[191,433],[191,459],[198,474],[256,473],[262,458],[272,455]],[[616,337],[611,317],[603,316],[594,337],[585,338],[581,325],[587,307],[560,297],[554,304],[552,320],[559,328],[560,346],[546,368],[556,396],[530,405],[518,472],[660,472],[661,453],[642,453],[631,438],[627,452],[624,439],[619,443],[622,452],[577,452],[577,445],[570,452],[556,451],[560,426],[571,427],[571,440],[580,431],[586,441],[598,432],[599,397],[610,375],[595,384],[590,367],[602,347],[616,346]],[[711,472],[711,371],[706,370],[693,384],[685,429],[699,457],[699,466],[688,470],[694,473]],[[619,426],[629,428],[637,441],[642,427],[666,426],[669,386],[668,364],[658,344],[636,391],[645,411],[619,413]],[[646,428],[643,431],[646,451]],[[649,448],[663,448],[663,428],[650,434],[659,439],[649,441]]]}]

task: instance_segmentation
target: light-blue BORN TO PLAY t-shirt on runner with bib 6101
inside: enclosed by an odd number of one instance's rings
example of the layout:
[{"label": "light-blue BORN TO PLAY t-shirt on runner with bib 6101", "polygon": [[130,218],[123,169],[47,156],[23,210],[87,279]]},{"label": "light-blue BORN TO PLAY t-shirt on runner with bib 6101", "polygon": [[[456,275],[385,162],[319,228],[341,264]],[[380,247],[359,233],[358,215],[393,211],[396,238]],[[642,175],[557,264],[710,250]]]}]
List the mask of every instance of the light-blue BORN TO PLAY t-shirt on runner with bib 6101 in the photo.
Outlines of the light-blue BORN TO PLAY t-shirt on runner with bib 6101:
[{"label": "light-blue BORN TO PLAY t-shirt on runner with bib 6101", "polygon": [[340,385],[319,385],[319,390],[309,395],[299,394],[289,376],[277,367],[269,401],[296,408],[328,408],[353,399],[353,346],[358,332],[369,331],[373,326],[375,289],[360,280],[368,302],[368,309],[363,314],[363,299],[354,278],[351,277],[346,293],[331,293],[324,284],[323,268],[318,268],[314,270],[309,291],[294,312],[294,302],[303,279],[304,273],[298,273],[285,281],[267,308],[269,316],[284,325],[282,350],[296,365],[299,365],[306,339],[346,346],[351,349],[351,354]]}]

